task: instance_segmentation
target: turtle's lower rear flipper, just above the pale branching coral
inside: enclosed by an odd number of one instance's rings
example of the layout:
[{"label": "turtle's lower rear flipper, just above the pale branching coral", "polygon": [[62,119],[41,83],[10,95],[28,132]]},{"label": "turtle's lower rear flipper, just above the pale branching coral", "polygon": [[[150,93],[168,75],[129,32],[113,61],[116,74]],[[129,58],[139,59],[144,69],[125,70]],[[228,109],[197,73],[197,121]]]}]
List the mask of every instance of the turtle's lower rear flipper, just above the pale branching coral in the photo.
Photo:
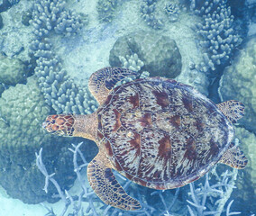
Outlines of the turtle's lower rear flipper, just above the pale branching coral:
[{"label": "turtle's lower rear flipper, just above the pale branching coral", "polygon": [[227,148],[223,156],[219,160],[219,163],[231,166],[233,168],[242,169],[247,165],[247,158],[243,155],[242,150],[234,146],[233,143]]}]

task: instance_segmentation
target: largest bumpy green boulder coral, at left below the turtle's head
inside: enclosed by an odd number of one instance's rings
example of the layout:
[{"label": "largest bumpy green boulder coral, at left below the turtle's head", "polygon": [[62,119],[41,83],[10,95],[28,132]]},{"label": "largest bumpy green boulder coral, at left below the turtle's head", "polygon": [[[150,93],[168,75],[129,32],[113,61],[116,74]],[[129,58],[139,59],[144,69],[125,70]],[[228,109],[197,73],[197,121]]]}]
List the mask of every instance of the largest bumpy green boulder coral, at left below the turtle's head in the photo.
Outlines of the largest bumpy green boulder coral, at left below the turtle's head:
[{"label": "largest bumpy green boulder coral, at left below the turtle's head", "polygon": [[41,129],[50,107],[34,77],[28,78],[26,85],[5,90],[0,98],[0,113],[0,184],[9,195],[23,202],[53,202],[51,195],[56,191],[53,186],[50,193],[42,190],[44,177],[35,165],[35,152],[41,147],[47,152],[43,160],[50,167],[49,172],[62,175],[58,180],[62,187],[74,180],[72,154],[63,139],[55,140]]}]

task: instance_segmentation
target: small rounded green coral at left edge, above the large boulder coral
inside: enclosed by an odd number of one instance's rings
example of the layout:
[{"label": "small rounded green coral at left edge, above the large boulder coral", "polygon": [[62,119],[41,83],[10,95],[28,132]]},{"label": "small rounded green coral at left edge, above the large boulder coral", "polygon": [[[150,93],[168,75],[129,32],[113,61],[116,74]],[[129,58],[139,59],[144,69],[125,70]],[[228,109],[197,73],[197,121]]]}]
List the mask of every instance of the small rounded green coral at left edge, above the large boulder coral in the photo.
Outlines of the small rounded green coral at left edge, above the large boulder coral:
[{"label": "small rounded green coral at left edge, above the large boulder coral", "polygon": [[23,83],[28,74],[28,69],[18,58],[8,58],[0,53],[0,82],[5,85]]}]

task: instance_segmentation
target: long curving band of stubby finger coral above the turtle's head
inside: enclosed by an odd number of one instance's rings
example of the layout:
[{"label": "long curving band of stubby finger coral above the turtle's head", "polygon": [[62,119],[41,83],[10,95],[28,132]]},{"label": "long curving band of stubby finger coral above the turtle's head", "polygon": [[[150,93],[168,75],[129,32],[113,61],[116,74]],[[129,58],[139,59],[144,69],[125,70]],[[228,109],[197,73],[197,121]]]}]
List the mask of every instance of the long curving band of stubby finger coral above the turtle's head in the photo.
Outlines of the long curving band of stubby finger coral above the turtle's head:
[{"label": "long curving band of stubby finger coral above the turtle's head", "polygon": [[36,1],[31,24],[34,40],[31,50],[36,58],[34,69],[46,103],[60,112],[90,113],[97,103],[87,87],[76,85],[62,68],[50,42],[50,33],[71,36],[82,27],[80,17],[65,10],[65,2],[59,0]]}]

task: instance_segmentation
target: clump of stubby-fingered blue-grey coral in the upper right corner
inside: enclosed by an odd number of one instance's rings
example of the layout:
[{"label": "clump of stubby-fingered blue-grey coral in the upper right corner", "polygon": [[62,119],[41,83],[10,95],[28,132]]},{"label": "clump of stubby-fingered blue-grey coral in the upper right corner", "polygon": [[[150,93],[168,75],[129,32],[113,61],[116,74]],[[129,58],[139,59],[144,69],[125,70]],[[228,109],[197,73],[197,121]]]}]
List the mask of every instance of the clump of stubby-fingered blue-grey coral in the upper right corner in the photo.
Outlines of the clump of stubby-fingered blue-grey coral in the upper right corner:
[{"label": "clump of stubby-fingered blue-grey coral in the upper right corner", "polygon": [[205,72],[215,70],[216,66],[229,61],[233,49],[241,42],[233,30],[231,8],[224,0],[207,0],[195,12],[203,17],[203,22],[197,23],[197,34],[205,50],[204,63],[198,68]]}]

